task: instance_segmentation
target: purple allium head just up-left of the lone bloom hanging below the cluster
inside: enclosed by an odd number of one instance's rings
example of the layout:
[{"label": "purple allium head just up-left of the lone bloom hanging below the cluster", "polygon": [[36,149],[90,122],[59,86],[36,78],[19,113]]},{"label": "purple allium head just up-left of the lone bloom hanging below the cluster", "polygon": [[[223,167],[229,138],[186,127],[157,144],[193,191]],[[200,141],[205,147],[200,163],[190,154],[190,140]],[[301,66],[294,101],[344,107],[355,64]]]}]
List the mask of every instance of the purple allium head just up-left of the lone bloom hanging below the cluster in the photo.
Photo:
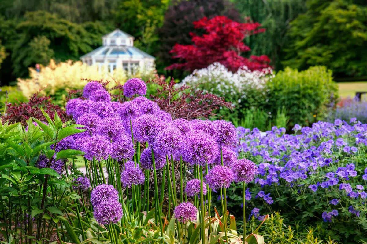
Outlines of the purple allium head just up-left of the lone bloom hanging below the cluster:
[{"label": "purple allium head just up-left of the lone bloom hanging below the cluster", "polygon": [[134,157],[134,145],[131,138],[121,134],[111,143],[111,157],[117,160],[131,159]]}]

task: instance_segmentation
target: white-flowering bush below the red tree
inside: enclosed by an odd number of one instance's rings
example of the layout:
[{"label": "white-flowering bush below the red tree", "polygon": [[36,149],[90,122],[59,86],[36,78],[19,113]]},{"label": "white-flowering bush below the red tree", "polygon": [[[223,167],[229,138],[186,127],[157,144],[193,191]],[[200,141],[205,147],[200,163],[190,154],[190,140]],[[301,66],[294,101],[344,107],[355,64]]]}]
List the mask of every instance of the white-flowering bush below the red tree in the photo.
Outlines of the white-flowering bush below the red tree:
[{"label": "white-flowering bush below the red tree", "polygon": [[[208,93],[224,97],[235,106],[235,116],[242,117],[244,110],[257,108],[264,102],[266,83],[273,77],[271,68],[251,71],[243,66],[233,73],[216,62],[207,68],[193,71],[182,80],[182,85],[197,86]],[[221,111],[222,115],[226,113],[228,110]]]}]

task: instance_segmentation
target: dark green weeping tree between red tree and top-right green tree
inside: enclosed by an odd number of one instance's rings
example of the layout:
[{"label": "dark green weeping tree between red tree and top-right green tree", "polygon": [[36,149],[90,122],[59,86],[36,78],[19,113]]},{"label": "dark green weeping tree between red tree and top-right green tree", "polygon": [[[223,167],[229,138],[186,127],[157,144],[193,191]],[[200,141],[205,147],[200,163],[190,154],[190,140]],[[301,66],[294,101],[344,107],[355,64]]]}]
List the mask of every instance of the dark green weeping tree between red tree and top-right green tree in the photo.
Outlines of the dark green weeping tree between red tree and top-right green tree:
[{"label": "dark green weeping tree between red tree and top-right green tree", "polygon": [[283,48],[289,42],[289,23],[306,10],[304,0],[233,0],[243,17],[261,23],[264,33],[251,35],[245,42],[252,55],[267,55],[276,70],[282,68]]}]

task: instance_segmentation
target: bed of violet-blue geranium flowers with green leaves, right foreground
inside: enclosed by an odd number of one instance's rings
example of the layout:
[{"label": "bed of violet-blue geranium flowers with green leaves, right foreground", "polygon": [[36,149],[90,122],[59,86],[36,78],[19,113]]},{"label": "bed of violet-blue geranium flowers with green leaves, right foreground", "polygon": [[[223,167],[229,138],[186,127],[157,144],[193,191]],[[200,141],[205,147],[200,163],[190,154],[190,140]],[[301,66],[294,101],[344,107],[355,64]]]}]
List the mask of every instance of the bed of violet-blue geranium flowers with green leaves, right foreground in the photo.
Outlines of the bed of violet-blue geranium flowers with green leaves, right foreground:
[{"label": "bed of violet-blue geranium flowers with green leaves, right foreground", "polygon": [[365,240],[367,124],[337,119],[293,131],[237,128],[237,154],[259,170],[247,189],[246,207],[259,219],[280,211],[305,226],[322,226],[322,235]]}]

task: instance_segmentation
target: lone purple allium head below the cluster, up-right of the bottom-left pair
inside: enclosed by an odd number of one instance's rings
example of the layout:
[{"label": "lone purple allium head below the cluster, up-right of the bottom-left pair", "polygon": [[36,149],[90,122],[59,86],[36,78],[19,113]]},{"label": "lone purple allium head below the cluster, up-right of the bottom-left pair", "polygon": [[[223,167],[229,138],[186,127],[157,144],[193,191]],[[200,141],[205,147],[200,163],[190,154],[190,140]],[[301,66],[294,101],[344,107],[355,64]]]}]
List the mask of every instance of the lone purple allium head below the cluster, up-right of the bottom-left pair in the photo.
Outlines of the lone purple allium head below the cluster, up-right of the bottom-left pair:
[{"label": "lone purple allium head below the cluster, up-right of the bottom-left pair", "polygon": [[121,183],[124,187],[130,188],[132,185],[142,185],[145,175],[139,165],[135,167],[133,161],[125,163],[125,170],[121,173]]}]

